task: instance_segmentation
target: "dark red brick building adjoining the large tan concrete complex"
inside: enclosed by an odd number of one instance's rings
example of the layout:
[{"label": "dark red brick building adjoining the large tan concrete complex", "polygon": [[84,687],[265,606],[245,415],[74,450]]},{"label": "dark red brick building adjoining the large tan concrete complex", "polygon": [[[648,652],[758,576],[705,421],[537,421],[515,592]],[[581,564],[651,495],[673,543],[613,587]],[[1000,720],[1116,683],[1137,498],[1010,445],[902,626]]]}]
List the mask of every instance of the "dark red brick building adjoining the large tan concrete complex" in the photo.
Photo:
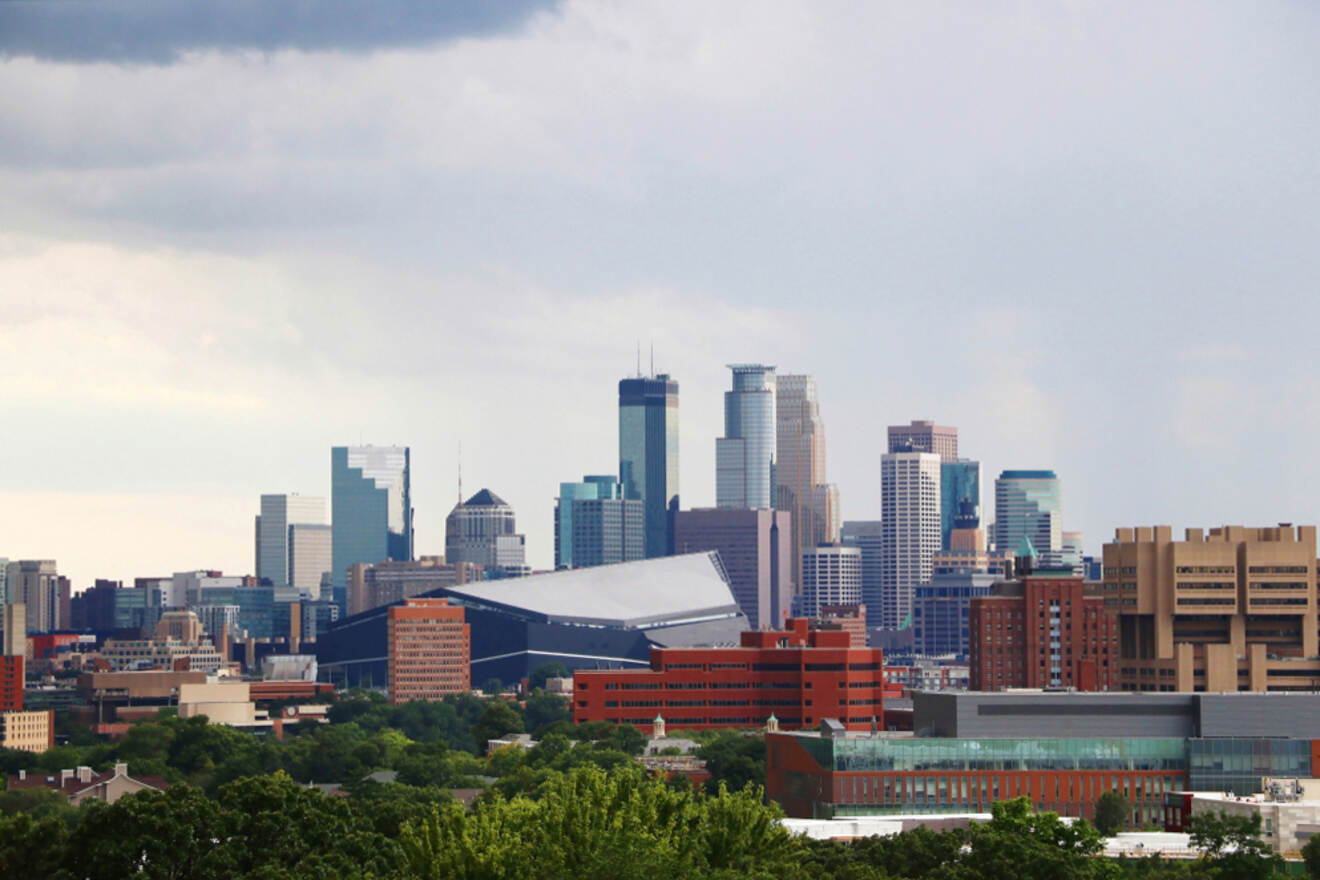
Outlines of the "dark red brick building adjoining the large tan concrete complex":
[{"label": "dark red brick building adjoining the large tan concrete complex", "polygon": [[974,596],[972,690],[1118,690],[1118,615],[1080,577],[1043,571]]}]

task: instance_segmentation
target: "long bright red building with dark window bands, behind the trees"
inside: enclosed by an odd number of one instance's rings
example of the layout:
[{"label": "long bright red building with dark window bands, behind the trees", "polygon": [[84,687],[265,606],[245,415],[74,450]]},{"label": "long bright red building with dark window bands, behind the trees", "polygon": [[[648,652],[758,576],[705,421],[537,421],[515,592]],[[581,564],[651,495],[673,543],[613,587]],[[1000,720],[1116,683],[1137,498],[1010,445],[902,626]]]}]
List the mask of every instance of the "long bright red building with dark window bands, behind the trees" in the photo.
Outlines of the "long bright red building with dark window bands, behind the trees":
[{"label": "long bright red building with dark window bands, behind the trees", "polygon": [[785,728],[834,718],[849,730],[884,722],[883,657],[851,648],[843,629],[809,629],[789,619],[781,631],[742,633],[739,648],[652,648],[649,669],[573,674],[573,720],[634,724],[656,716],[671,730],[762,727],[771,715]]}]

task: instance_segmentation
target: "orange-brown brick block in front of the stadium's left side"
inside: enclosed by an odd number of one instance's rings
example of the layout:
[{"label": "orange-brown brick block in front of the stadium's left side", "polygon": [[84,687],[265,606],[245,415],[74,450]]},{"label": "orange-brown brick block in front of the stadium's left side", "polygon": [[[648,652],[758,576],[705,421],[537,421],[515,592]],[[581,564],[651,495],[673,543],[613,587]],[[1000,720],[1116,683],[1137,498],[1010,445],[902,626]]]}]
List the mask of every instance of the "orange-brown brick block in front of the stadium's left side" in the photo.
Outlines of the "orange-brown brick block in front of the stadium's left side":
[{"label": "orange-brown brick block in front of the stadium's left side", "polygon": [[389,701],[441,699],[470,689],[471,629],[447,599],[405,599],[387,623]]}]

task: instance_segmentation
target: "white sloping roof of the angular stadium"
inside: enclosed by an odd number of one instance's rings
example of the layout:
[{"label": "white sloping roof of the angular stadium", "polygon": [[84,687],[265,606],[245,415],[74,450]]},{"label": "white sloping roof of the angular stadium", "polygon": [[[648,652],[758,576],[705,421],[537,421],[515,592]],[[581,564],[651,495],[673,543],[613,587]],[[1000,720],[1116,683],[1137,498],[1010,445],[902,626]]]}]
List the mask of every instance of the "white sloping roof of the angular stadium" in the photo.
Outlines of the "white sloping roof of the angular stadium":
[{"label": "white sloping roof of the angular stadium", "polygon": [[480,581],[445,587],[444,592],[552,621],[627,629],[739,613],[714,551]]}]

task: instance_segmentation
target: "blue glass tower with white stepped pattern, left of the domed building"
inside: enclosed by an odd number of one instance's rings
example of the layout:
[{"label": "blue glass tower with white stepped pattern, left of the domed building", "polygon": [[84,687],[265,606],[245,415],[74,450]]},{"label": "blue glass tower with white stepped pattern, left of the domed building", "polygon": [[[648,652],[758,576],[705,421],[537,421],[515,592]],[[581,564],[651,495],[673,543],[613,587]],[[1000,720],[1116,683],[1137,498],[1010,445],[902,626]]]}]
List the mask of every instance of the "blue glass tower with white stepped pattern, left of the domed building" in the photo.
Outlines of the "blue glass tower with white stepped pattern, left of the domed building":
[{"label": "blue glass tower with white stepped pattern, left of the domed building", "polygon": [[411,458],[407,446],[330,450],[331,573],[341,608],[354,562],[413,557]]}]

